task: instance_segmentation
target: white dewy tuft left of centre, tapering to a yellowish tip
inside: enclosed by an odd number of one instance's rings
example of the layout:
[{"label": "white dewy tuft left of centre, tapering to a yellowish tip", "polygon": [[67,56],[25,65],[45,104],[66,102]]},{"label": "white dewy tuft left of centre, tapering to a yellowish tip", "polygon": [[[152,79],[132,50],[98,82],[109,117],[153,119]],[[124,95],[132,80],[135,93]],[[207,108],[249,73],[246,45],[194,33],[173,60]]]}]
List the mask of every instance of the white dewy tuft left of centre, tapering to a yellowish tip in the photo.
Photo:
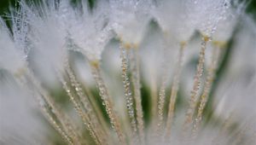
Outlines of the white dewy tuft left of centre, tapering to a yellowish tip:
[{"label": "white dewy tuft left of centre, tapering to a yellowish tip", "polygon": [[101,60],[103,49],[113,38],[108,3],[99,1],[95,9],[90,9],[88,3],[82,2],[81,9],[72,10],[67,19],[71,22],[68,32],[73,43],[90,61]]}]

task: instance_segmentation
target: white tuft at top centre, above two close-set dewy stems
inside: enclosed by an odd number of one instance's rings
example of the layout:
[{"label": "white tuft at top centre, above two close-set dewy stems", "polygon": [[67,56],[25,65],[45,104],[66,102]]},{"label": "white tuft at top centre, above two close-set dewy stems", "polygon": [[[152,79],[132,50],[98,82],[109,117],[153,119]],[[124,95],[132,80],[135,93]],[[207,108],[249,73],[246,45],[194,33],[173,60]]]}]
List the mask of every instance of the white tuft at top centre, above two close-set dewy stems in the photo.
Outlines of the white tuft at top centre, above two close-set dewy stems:
[{"label": "white tuft at top centre, above two close-set dewy stems", "polygon": [[110,7],[113,30],[121,41],[140,44],[150,20],[148,12],[152,8],[151,0],[110,0]]}]

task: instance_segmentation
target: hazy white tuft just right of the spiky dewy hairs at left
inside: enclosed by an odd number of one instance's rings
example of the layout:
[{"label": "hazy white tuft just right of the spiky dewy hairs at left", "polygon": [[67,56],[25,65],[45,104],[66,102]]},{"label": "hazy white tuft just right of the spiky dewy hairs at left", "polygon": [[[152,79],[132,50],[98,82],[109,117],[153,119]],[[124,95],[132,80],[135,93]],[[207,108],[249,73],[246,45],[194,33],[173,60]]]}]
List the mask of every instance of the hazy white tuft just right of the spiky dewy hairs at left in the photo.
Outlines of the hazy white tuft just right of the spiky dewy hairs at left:
[{"label": "hazy white tuft just right of the spiky dewy hairs at left", "polygon": [[67,30],[57,3],[44,1],[40,9],[23,3],[27,11],[30,30],[28,38],[32,49],[45,58],[44,65],[63,69],[67,58]]}]

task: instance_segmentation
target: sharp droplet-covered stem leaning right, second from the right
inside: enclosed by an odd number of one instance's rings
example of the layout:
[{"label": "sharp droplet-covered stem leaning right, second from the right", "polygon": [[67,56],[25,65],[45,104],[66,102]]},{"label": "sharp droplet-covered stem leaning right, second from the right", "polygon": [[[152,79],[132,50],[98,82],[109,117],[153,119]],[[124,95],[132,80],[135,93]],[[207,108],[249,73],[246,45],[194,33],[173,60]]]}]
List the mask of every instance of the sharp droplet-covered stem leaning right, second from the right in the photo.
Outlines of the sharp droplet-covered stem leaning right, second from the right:
[{"label": "sharp droplet-covered stem leaning right, second from the right", "polygon": [[209,41],[209,38],[207,37],[202,38],[199,62],[196,67],[193,89],[191,90],[191,93],[190,93],[189,109],[186,113],[185,122],[183,124],[183,133],[188,131],[189,127],[191,127],[190,125],[193,122],[193,115],[195,113],[196,102],[197,102],[199,90],[201,88],[201,77],[204,71],[204,63],[205,63],[205,50],[207,49],[208,41]]}]

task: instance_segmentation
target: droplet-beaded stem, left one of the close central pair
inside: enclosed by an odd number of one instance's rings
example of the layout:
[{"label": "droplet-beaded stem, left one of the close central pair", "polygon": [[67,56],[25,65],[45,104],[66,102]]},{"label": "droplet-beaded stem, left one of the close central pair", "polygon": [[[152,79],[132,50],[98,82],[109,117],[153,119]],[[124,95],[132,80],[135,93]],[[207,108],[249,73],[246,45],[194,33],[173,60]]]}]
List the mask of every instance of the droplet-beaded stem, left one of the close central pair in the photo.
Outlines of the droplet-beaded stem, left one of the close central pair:
[{"label": "droplet-beaded stem, left one of the close central pair", "polygon": [[131,83],[128,77],[128,55],[130,49],[124,49],[123,46],[120,45],[120,58],[121,58],[121,68],[122,68],[122,80],[125,89],[125,100],[126,107],[128,110],[128,116],[131,121],[131,135],[133,144],[137,143],[137,121],[135,118],[135,110],[134,110],[134,100],[131,94]]}]

